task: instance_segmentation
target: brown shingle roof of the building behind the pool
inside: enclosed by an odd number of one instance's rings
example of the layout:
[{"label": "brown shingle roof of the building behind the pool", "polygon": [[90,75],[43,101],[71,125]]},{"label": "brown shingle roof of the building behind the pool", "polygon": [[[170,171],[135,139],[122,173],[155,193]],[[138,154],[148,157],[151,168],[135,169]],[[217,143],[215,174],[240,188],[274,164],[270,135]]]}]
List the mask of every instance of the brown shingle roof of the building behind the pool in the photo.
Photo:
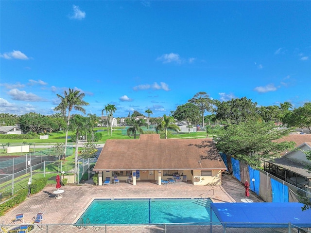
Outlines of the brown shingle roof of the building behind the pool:
[{"label": "brown shingle roof of the building behind the pool", "polygon": [[107,140],[93,170],[226,170],[211,139],[139,137]]}]

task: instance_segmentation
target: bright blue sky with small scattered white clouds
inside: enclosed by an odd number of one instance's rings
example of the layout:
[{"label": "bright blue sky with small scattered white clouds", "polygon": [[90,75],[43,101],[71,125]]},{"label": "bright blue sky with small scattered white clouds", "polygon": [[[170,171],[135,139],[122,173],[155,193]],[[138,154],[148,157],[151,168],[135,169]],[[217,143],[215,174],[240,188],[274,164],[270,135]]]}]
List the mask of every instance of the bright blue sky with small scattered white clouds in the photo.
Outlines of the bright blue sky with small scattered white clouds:
[{"label": "bright blue sky with small scattered white clouds", "polygon": [[126,117],[197,92],[258,106],[311,101],[311,1],[1,1],[0,112],[54,113],[86,94]]}]

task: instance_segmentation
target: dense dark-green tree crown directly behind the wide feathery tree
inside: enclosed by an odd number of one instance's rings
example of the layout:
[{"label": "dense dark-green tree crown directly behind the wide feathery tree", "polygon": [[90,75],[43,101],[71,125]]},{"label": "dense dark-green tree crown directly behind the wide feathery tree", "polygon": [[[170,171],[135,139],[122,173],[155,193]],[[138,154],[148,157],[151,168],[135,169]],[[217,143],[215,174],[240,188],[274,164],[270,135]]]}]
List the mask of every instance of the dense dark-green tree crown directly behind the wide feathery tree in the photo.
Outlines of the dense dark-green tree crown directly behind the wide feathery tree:
[{"label": "dense dark-green tree crown directly behind the wide feathery tree", "polygon": [[259,118],[257,103],[243,97],[231,99],[217,104],[216,119],[225,121],[228,125],[239,125],[242,122],[256,121]]}]

